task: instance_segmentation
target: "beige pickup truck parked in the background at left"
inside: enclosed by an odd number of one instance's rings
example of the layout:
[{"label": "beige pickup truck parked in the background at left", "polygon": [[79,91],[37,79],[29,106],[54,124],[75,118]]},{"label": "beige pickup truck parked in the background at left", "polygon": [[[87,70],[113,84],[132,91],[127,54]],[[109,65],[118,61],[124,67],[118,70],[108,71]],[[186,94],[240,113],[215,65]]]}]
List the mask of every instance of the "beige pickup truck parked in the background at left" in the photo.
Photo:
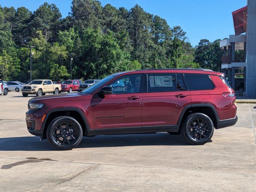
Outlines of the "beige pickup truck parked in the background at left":
[{"label": "beige pickup truck parked in the background at left", "polygon": [[61,90],[59,84],[53,84],[51,80],[39,79],[33,80],[28,85],[22,87],[22,96],[27,97],[28,94],[36,94],[42,96],[46,93],[58,94]]}]

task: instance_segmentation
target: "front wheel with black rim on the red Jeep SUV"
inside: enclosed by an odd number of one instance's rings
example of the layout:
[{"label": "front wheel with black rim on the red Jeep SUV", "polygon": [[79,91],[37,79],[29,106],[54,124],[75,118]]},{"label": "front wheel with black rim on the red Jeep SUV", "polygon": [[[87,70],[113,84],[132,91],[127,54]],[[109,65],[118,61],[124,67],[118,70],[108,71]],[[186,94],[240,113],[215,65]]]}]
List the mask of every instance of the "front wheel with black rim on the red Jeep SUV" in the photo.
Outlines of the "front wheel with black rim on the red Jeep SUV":
[{"label": "front wheel with black rim on the red Jeep SUV", "polygon": [[[68,124],[68,130],[66,129],[66,124]],[[75,148],[81,142],[82,136],[83,130],[81,125],[70,116],[55,118],[50,122],[46,131],[48,141],[58,150],[71,150]]]}]

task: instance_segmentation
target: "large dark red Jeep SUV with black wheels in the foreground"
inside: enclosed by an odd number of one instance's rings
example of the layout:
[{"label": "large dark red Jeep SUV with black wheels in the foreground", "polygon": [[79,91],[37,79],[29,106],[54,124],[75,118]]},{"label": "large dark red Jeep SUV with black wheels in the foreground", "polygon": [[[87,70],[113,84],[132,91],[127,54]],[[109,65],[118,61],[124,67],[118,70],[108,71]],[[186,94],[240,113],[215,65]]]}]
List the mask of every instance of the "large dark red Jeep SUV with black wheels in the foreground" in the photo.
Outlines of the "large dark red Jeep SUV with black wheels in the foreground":
[{"label": "large dark red Jeep SUV with black wheels in the foreground", "polygon": [[[118,82],[127,86],[112,89]],[[168,132],[205,144],[214,128],[237,122],[235,92],[224,74],[158,69],[119,72],[82,92],[29,100],[28,131],[70,150],[82,136]]]}]

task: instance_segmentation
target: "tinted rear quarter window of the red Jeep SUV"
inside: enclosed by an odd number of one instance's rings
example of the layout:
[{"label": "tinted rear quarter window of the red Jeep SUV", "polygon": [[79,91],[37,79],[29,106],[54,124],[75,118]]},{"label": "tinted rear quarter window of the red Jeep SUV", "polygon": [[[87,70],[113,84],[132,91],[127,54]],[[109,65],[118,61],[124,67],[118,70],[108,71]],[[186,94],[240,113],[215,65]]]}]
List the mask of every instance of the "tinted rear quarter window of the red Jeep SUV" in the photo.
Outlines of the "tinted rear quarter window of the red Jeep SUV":
[{"label": "tinted rear quarter window of the red Jeep SUV", "polygon": [[188,90],[211,90],[214,84],[209,75],[204,74],[184,74]]}]

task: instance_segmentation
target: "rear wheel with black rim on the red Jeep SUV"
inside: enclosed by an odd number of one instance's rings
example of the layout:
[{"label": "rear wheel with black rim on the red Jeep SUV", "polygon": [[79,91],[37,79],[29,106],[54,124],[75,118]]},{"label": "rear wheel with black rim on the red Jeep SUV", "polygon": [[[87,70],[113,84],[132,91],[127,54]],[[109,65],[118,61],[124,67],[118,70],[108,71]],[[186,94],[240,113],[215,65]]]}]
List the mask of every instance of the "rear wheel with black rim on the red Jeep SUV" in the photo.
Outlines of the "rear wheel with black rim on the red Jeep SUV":
[{"label": "rear wheel with black rim on the red Jeep SUV", "polygon": [[192,145],[203,145],[212,138],[214,125],[206,114],[194,113],[186,118],[180,132],[186,142]]}]

